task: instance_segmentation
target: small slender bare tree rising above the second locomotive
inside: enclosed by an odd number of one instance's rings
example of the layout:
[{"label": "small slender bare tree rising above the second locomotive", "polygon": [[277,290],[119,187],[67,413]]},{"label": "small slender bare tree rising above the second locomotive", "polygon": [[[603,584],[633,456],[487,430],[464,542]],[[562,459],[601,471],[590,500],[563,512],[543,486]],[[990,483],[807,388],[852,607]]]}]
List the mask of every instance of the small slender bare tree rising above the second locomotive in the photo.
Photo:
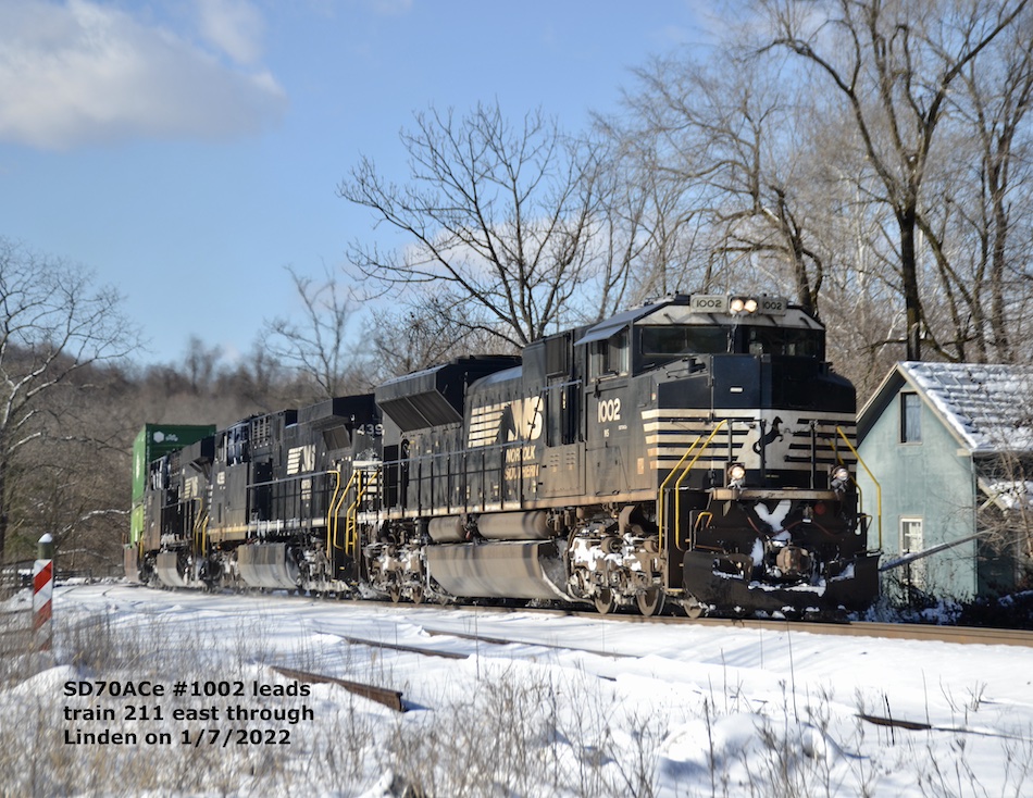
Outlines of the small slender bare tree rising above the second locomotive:
[{"label": "small slender bare tree rising above the second locomotive", "polygon": [[314,397],[329,399],[352,388],[361,363],[356,347],[347,339],[352,320],[353,298],[338,278],[326,272],[315,282],[287,267],[301,300],[303,320],[276,317],[264,325],[269,352],[309,377],[316,386]]}]

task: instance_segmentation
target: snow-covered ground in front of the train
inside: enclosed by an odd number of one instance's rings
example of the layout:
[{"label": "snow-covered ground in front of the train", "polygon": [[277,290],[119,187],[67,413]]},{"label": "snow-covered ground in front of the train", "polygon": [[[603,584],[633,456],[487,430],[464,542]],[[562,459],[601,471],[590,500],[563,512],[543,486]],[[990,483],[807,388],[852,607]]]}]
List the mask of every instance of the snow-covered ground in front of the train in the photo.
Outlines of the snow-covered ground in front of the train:
[{"label": "snow-covered ground in front of the train", "polygon": [[0,685],[4,795],[1033,795],[1029,648],[117,584],[54,612],[54,659]]}]

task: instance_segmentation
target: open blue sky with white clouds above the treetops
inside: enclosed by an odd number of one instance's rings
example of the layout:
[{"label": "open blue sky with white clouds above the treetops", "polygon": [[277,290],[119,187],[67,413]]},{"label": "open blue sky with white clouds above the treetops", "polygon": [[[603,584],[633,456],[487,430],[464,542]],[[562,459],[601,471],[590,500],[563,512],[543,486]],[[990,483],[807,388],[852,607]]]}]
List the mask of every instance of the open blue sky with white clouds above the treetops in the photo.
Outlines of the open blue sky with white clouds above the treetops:
[{"label": "open blue sky with white clouds above the treetops", "polygon": [[375,235],[336,196],[434,104],[570,132],[704,41],[704,0],[0,0],[0,236],[94,271],[145,363],[227,359]]}]

